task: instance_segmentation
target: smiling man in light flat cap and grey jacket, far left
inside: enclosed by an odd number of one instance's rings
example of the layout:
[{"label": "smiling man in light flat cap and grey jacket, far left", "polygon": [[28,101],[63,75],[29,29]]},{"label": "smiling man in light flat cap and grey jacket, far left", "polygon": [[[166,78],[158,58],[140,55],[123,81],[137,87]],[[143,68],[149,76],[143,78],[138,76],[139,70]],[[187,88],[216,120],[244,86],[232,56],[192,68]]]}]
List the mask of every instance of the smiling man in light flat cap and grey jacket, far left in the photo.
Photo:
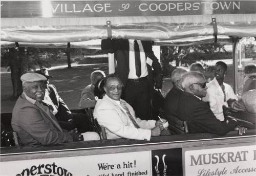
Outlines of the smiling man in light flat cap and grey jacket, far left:
[{"label": "smiling man in light flat cap and grey jacket, far left", "polygon": [[21,145],[48,145],[83,140],[76,129],[69,133],[62,129],[51,109],[42,103],[47,80],[45,76],[26,73],[20,79],[23,82],[23,93],[13,108],[12,128],[17,131]]}]

